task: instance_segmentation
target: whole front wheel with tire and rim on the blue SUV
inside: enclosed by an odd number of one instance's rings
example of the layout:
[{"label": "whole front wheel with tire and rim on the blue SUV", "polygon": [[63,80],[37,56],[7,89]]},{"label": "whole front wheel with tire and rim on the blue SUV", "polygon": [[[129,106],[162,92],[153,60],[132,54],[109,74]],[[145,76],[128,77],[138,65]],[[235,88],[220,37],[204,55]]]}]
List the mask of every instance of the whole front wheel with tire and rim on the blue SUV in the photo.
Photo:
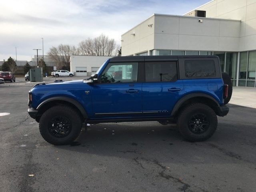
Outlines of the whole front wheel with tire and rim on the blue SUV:
[{"label": "whole front wheel with tire and rim on the blue SUV", "polygon": [[53,106],[40,118],[39,130],[47,142],[65,145],[80,134],[82,120],[76,110],[69,106]]}]

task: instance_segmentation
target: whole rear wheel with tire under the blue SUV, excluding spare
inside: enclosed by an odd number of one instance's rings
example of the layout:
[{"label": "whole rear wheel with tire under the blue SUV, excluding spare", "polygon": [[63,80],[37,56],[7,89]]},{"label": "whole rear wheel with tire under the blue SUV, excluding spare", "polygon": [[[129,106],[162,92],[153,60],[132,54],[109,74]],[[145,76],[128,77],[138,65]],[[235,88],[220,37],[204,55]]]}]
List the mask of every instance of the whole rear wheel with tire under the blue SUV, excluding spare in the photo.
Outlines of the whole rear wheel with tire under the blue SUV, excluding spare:
[{"label": "whole rear wheel with tire under the blue SUV, excluding spare", "polygon": [[190,141],[204,141],[210,138],[217,125],[218,119],[214,110],[202,103],[186,106],[177,121],[180,133]]}]

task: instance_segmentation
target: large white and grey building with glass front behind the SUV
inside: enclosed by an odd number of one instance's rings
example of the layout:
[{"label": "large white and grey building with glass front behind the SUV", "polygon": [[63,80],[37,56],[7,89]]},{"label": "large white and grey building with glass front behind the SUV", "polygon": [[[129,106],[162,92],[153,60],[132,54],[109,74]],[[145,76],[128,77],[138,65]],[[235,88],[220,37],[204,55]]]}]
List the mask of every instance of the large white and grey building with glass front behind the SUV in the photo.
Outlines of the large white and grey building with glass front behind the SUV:
[{"label": "large white and grey building with glass front behind the SUV", "polygon": [[214,54],[234,85],[256,86],[256,0],[212,0],[183,16],[154,14],[121,42],[122,56]]}]

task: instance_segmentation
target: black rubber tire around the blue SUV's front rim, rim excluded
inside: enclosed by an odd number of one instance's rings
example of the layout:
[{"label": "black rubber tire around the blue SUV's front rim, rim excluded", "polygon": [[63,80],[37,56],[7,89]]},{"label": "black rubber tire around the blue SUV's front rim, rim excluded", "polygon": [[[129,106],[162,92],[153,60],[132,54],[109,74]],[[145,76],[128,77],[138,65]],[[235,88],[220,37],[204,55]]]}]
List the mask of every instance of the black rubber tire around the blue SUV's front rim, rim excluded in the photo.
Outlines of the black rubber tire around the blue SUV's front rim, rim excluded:
[{"label": "black rubber tire around the blue SUV's front rim, rim excluded", "polygon": [[[49,124],[51,119],[56,116],[63,116],[67,118],[71,123],[71,130],[69,134],[65,137],[58,138],[53,136],[49,130]],[[82,120],[80,115],[76,110],[69,106],[53,106],[52,108],[46,110],[40,118],[39,130],[40,134],[50,144],[54,145],[65,145],[73,142],[80,134],[82,128]]]}]

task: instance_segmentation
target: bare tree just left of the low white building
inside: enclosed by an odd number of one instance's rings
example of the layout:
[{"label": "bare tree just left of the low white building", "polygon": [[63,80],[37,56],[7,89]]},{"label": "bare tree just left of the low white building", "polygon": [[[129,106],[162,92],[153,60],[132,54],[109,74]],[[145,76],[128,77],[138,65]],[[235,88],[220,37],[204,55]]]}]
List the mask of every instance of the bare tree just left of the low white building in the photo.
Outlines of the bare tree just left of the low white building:
[{"label": "bare tree just left of the low white building", "polygon": [[64,67],[66,70],[69,70],[70,56],[77,55],[78,53],[79,50],[75,46],[60,44],[58,47],[53,46],[50,48],[47,54],[55,60],[57,69]]}]

